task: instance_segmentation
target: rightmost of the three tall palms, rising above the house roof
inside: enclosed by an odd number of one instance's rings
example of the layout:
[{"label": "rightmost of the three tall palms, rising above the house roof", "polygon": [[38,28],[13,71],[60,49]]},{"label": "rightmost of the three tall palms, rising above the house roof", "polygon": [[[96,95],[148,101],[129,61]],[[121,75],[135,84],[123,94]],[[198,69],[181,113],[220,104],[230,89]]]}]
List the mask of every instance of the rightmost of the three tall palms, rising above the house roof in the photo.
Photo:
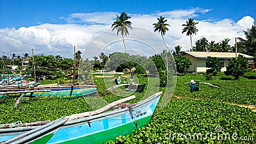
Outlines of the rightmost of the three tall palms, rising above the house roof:
[{"label": "rightmost of the three tall palms, rising above the house roof", "polygon": [[185,26],[185,28],[182,29],[182,33],[186,32],[187,36],[190,36],[190,43],[191,43],[191,49],[192,49],[192,35],[198,32],[198,29],[196,29],[196,24],[198,22],[194,22],[194,19],[189,18],[188,21],[186,21],[186,24],[182,24],[182,26]]}]

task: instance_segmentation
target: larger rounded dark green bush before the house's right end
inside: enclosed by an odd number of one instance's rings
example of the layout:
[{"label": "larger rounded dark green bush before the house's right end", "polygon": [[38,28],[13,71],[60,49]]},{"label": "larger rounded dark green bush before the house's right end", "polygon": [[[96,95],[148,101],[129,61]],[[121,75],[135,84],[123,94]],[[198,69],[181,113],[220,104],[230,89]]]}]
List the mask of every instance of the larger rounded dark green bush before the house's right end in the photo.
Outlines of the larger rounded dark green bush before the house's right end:
[{"label": "larger rounded dark green bush before the house's right end", "polygon": [[235,79],[238,79],[240,76],[243,76],[243,74],[248,71],[249,68],[247,58],[239,54],[237,58],[233,58],[232,61],[228,63],[225,75],[231,75],[234,76]]}]

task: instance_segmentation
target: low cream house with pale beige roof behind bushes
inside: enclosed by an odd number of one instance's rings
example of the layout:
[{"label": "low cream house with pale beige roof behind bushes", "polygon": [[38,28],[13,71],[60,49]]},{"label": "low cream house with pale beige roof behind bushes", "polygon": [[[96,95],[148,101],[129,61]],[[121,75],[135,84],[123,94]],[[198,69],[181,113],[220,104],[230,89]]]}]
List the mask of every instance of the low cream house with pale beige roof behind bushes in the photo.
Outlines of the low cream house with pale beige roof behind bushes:
[{"label": "low cream house with pale beige roof behind bushes", "polygon": [[[246,54],[241,54],[237,52],[238,55],[245,56],[248,58],[248,61],[253,60],[253,56],[248,56]],[[183,53],[184,56],[189,58],[192,61],[191,67],[188,68],[188,72],[206,72],[206,62],[208,56],[216,57],[220,60],[221,71],[226,71],[228,62],[232,60],[232,58],[236,58],[236,52],[202,52],[202,51],[185,51]],[[249,65],[252,66],[252,63]]]}]

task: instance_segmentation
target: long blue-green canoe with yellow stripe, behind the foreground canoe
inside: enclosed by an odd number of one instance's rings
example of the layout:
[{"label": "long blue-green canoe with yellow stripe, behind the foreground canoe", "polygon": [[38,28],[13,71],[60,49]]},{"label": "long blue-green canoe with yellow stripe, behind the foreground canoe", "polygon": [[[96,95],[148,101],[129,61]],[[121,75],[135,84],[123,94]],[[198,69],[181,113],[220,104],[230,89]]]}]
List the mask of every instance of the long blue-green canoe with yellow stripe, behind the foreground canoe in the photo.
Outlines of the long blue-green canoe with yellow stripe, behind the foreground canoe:
[{"label": "long blue-green canoe with yellow stripe, behind the foreground canoe", "polygon": [[[31,89],[30,89],[31,90]],[[19,92],[28,92],[23,97],[57,97],[61,99],[75,99],[84,95],[90,95],[97,92],[95,85],[82,85],[82,86],[44,86],[35,87],[33,92],[29,93],[28,90],[22,89],[2,89],[0,90],[0,98],[2,97],[20,97]],[[12,93],[15,92],[15,93]]]}]

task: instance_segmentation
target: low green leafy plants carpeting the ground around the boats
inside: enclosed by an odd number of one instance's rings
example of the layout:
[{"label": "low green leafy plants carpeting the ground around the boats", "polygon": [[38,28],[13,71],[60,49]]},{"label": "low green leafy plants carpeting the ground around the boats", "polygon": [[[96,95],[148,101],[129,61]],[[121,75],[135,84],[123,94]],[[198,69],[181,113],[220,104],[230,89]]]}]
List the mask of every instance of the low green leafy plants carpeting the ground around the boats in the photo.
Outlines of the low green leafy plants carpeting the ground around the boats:
[{"label": "low green leafy plants carpeting the ground around the boats", "polygon": [[[110,79],[110,78],[109,78]],[[200,82],[212,83],[220,88],[213,88],[207,85],[200,85],[199,92],[190,92],[188,85],[184,84],[191,79],[200,80]],[[106,90],[107,86],[103,78],[93,79],[97,84],[98,92],[101,96],[93,102],[94,109],[99,108],[100,100],[110,103],[122,99],[120,93],[124,88],[111,93]],[[139,83],[153,83],[156,78],[138,77]],[[126,80],[125,80],[126,81]],[[112,82],[107,83],[111,86]],[[115,84],[113,84],[115,85]],[[160,88],[159,91],[164,91]],[[133,93],[136,99],[129,103],[135,103],[144,98],[145,94],[150,95],[158,91],[157,86],[146,87],[143,93]],[[189,98],[199,98],[203,100],[192,99],[172,99],[164,109],[156,109],[150,123],[138,131],[134,131],[131,136],[118,136],[116,141],[108,143],[256,143],[256,113],[248,108],[241,108],[228,103],[253,104],[256,105],[256,79],[246,79],[240,77],[234,80],[230,76],[219,74],[212,77],[212,80],[205,81],[205,76],[200,74],[186,74],[177,77],[175,95]],[[126,93],[132,95],[132,93]],[[99,101],[97,101],[99,100]],[[0,99],[0,121],[3,123],[12,123],[17,120],[22,122],[35,122],[39,120],[54,120],[61,116],[72,115],[91,111],[86,104],[86,99],[79,98],[74,100],[61,99],[33,99],[31,102],[22,101],[18,108],[14,108],[13,99]],[[97,106],[99,104],[99,106]],[[106,104],[106,103],[104,103]],[[171,140],[164,138],[166,133],[195,134],[216,132],[215,128],[220,126],[222,133],[237,133],[238,136],[253,136],[253,141],[241,140],[179,140],[174,137]]]}]

